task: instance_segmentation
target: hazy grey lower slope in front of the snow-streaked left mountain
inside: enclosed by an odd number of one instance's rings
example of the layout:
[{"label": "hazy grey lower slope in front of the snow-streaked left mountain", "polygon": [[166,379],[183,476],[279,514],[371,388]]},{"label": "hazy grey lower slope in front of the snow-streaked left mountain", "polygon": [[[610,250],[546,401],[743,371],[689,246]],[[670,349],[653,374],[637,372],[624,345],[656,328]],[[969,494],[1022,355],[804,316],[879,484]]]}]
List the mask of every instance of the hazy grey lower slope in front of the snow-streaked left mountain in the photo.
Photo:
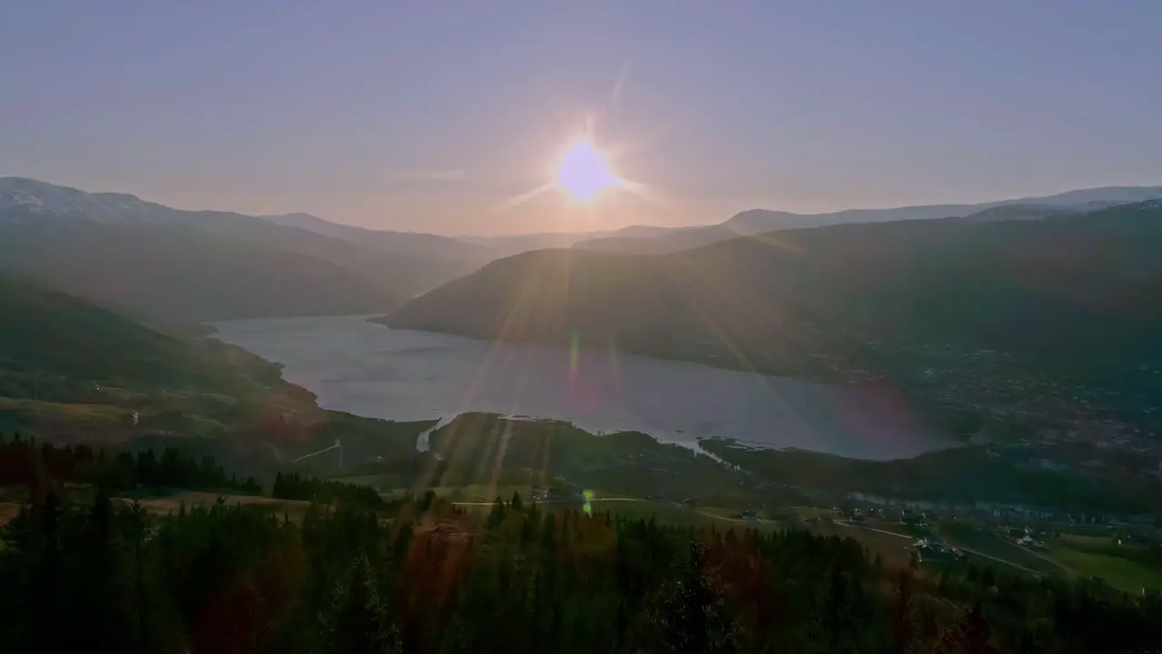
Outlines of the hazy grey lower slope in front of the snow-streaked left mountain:
[{"label": "hazy grey lower slope in front of the snow-streaked left mountain", "polygon": [[403,298],[352,265],[181,225],[9,228],[0,266],[174,321],[361,313]]}]

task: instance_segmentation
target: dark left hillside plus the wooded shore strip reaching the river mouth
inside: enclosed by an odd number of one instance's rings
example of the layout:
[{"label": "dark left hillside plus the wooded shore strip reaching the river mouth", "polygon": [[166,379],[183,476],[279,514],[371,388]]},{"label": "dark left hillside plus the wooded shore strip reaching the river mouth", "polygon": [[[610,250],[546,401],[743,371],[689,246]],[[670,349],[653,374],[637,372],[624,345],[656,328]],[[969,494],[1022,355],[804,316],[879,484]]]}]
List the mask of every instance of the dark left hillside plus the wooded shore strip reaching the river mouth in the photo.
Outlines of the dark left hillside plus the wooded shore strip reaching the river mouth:
[{"label": "dark left hillside plus the wooded shore strip reaching the river mouth", "polygon": [[0,307],[0,436],[178,446],[273,476],[337,436],[349,464],[407,462],[435,422],[321,410],[279,365],[201,330],[146,327],[2,275]]}]

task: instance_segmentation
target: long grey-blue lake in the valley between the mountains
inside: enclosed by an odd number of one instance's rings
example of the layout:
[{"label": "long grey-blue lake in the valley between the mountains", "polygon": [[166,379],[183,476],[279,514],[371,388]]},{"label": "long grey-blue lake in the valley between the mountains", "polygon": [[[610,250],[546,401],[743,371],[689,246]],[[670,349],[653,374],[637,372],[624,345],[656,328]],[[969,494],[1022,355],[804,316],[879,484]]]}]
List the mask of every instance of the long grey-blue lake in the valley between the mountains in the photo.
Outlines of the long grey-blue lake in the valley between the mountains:
[{"label": "long grey-blue lake in the valley between the mountains", "polygon": [[285,365],[325,408],[392,420],[479,411],[638,431],[662,442],[733,438],[870,460],[956,445],[889,390],[634,356],[611,349],[494,343],[389,329],[368,317],[217,322],[217,337]]}]

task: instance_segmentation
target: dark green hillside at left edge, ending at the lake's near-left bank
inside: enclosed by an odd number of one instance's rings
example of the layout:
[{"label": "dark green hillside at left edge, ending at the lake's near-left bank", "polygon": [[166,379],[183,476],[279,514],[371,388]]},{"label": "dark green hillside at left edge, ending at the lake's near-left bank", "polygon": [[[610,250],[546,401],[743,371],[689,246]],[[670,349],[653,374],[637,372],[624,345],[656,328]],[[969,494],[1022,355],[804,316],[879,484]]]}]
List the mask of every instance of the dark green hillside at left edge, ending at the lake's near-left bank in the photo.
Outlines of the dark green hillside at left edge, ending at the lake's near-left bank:
[{"label": "dark green hillside at left edge, ending at the lake's near-left bank", "polygon": [[[0,433],[112,441],[210,435],[243,407],[278,406],[279,368],[220,341],[156,329],[0,275]],[[310,405],[309,394],[296,404]],[[129,419],[139,412],[139,419]]]}]

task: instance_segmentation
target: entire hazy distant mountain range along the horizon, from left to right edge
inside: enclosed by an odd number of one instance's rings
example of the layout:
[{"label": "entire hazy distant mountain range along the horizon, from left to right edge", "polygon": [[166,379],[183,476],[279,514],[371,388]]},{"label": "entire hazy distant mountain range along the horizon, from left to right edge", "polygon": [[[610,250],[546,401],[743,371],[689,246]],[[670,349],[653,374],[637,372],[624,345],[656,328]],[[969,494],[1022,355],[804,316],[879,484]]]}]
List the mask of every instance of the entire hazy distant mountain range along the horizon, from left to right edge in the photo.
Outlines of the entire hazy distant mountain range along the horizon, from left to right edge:
[{"label": "entire hazy distant mountain range along the horizon, from left to right edge", "polygon": [[1162,198],[1162,187],[819,215],[754,209],[705,227],[453,239],[366,229],[304,213],[185,211],[124,193],[5,177],[0,270],[157,320],[382,313],[490,261],[545,248],[666,254],[780,229],[928,218],[1033,219],[1150,198]]}]

